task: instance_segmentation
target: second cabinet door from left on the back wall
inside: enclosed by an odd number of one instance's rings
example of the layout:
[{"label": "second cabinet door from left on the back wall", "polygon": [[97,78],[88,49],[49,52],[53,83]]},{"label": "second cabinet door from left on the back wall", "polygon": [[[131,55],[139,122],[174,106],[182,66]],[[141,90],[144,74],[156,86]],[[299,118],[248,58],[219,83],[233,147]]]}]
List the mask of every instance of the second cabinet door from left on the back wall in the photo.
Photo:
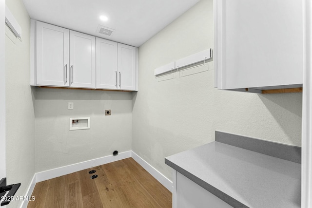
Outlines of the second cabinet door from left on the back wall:
[{"label": "second cabinet door from left on the back wall", "polygon": [[96,38],[70,31],[70,87],[96,87]]}]

